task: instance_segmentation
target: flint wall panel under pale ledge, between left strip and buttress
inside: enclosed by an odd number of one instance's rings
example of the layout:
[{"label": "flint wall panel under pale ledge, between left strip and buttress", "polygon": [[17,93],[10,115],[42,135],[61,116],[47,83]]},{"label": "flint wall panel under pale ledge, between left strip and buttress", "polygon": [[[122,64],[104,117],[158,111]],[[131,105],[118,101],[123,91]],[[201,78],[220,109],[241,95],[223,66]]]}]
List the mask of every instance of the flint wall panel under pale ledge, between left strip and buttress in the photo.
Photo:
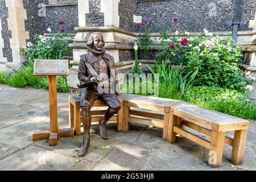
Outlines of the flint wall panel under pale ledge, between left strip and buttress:
[{"label": "flint wall panel under pale ledge, between left strip and buttress", "polygon": [[[75,33],[75,27],[79,26],[79,14],[77,6],[47,7],[46,29],[51,28],[52,32],[61,30],[58,22],[63,21],[63,29],[66,33]],[[46,30],[45,30],[46,32]]]}]

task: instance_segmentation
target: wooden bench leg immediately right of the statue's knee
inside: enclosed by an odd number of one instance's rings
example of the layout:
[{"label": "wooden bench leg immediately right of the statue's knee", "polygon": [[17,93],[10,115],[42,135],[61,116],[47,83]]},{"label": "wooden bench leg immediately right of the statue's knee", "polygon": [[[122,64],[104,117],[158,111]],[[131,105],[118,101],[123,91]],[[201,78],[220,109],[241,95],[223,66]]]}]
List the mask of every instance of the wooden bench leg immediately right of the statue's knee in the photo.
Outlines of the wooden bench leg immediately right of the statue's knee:
[{"label": "wooden bench leg immediately right of the statue's knee", "polygon": [[121,101],[121,105],[121,109],[118,111],[117,131],[126,133],[129,131],[128,117],[130,107],[127,106],[127,101]]}]

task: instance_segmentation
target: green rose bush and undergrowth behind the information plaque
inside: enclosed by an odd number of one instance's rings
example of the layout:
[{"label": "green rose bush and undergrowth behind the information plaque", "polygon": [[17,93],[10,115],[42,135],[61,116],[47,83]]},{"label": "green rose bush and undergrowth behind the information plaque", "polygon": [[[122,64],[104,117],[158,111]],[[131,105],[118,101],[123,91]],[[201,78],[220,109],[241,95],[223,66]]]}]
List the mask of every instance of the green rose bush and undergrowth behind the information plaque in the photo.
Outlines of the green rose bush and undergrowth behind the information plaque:
[{"label": "green rose bush and undergrowth behind the information plaque", "polygon": [[[63,25],[60,25],[63,28]],[[11,76],[11,85],[17,87],[33,86],[35,88],[48,89],[47,76],[34,76],[35,59],[68,59],[72,48],[68,44],[72,42],[67,34],[56,32],[52,37],[46,38],[36,35],[36,44],[28,43],[26,49],[20,49],[20,54],[28,59],[25,67],[19,68],[18,72]],[[71,65],[69,65],[71,67]],[[69,92],[67,76],[57,76],[57,92]]]}]

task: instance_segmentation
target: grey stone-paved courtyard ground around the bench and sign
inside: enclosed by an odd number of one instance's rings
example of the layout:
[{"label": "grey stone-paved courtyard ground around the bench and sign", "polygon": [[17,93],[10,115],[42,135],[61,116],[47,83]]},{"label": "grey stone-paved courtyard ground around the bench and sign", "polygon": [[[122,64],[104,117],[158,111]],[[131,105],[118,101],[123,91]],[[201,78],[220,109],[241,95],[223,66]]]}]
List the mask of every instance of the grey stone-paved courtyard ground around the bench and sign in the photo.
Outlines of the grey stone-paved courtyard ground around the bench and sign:
[{"label": "grey stone-paved courtyard ground around the bench and sign", "polygon": [[[57,96],[60,128],[68,127],[70,94],[76,93]],[[243,164],[229,162],[232,148],[225,144],[222,167],[215,169],[207,164],[207,149],[183,137],[175,144],[163,141],[161,129],[133,125],[128,133],[117,133],[110,123],[110,139],[102,140],[92,125],[90,148],[82,158],[75,151],[82,136],[59,138],[57,146],[32,141],[32,131],[48,129],[48,90],[0,84],[0,170],[256,170],[255,121],[250,122]]]}]

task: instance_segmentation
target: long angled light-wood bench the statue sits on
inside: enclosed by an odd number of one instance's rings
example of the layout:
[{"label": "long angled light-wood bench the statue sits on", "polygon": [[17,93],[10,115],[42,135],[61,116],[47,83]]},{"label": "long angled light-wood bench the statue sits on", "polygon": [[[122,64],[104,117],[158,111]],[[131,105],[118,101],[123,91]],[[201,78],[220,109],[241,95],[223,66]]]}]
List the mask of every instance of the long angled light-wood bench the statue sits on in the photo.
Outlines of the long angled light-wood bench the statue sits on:
[{"label": "long angled light-wood bench the statue sits on", "polygon": [[[176,142],[176,134],[209,149],[209,164],[220,167],[224,143],[232,146],[230,161],[242,164],[249,121],[228,114],[205,109],[184,101],[122,94],[119,96],[121,109],[110,121],[117,121],[117,131],[129,131],[129,123],[139,123],[163,128],[163,140]],[[106,106],[97,100],[93,107]],[[158,112],[158,113],[152,113]],[[92,122],[102,119],[105,110],[92,111]],[[69,96],[69,125],[81,135],[80,96]],[[185,130],[189,127],[211,137],[210,141]],[[234,131],[234,138],[225,136],[226,131]]]}]

